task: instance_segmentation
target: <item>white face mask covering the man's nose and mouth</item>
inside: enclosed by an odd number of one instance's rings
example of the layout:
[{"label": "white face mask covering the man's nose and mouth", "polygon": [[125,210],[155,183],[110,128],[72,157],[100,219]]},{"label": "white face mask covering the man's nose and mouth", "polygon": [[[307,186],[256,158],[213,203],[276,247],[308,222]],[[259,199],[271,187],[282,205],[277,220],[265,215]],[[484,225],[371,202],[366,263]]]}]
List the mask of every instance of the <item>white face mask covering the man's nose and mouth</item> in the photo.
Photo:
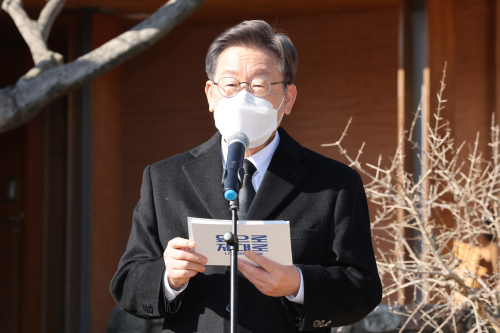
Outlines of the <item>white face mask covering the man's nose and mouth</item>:
[{"label": "white face mask covering the man's nose and mouth", "polygon": [[[286,96],[286,91],[285,91]],[[269,139],[278,128],[278,110],[264,98],[255,97],[246,90],[241,90],[236,96],[223,98],[215,105],[215,126],[226,139],[230,134],[241,132],[250,140],[249,148],[258,147]],[[215,104],[215,101],[214,101]],[[285,113],[283,113],[285,114]]]}]

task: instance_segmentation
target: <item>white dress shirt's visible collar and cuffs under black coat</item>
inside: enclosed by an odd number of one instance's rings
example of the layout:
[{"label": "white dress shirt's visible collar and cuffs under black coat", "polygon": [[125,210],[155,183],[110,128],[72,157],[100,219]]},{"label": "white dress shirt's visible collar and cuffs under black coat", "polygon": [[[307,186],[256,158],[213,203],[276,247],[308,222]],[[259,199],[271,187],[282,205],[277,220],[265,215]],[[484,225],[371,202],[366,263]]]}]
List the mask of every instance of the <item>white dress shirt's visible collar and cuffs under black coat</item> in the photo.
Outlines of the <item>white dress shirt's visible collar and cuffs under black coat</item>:
[{"label": "white dress shirt's visible collar and cuffs under black coat", "polygon": [[[257,153],[253,154],[250,157],[245,157],[246,159],[250,160],[254,165],[257,171],[253,174],[252,176],[252,185],[255,189],[255,192],[259,190],[260,184],[262,183],[262,179],[264,178],[264,174],[267,171],[267,168],[269,167],[269,163],[271,163],[271,159],[273,158],[274,152],[276,151],[276,148],[278,148],[278,144],[280,143],[280,136],[278,134],[278,131],[276,131],[276,135],[274,136],[273,141],[271,141],[267,146],[259,150]],[[228,151],[228,146],[227,143],[224,141],[224,139],[221,137],[221,147],[222,147],[222,167],[225,169],[226,168],[226,159],[227,159],[227,151]],[[298,268],[298,267],[297,267]],[[300,272],[300,287],[299,291],[297,293],[297,296],[286,296],[289,301],[298,303],[298,304],[303,304],[304,303],[304,277],[302,276],[302,272],[299,268]],[[173,290],[170,288],[170,285],[168,284],[168,278],[167,278],[167,272],[165,271],[165,279],[164,279],[164,290],[165,290],[165,296],[167,297],[168,301],[171,302],[173,301],[177,295],[179,295],[184,289],[186,289],[188,283],[183,284],[182,287],[177,291]]]}]

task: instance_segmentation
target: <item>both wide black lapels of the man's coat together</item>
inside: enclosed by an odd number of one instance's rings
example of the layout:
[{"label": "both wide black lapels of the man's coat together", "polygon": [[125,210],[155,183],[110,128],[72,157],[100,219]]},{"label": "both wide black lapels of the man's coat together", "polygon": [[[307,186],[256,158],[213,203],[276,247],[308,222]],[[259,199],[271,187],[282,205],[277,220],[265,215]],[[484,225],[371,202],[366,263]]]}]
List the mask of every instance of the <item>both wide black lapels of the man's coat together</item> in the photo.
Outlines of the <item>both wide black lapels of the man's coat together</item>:
[{"label": "both wide black lapels of the man's coat together", "polygon": [[[247,214],[248,220],[265,220],[309,173],[299,162],[306,157],[302,146],[278,128],[280,143]],[[194,159],[183,165],[191,186],[214,219],[231,219],[229,203],[224,199],[220,133],[193,149]]]}]

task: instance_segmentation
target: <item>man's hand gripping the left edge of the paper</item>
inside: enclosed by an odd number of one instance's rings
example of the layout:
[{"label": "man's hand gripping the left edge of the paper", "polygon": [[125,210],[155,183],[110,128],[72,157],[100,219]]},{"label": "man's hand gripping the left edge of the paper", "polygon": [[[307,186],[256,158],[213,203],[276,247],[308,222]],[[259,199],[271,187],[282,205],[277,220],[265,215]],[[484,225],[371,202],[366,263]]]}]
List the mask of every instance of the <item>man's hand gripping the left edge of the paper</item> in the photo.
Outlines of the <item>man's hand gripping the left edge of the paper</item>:
[{"label": "man's hand gripping the left edge of the paper", "polygon": [[194,248],[193,241],[176,237],[168,242],[163,252],[168,284],[173,290],[179,290],[198,272],[205,271],[204,265],[207,263],[207,258],[191,252],[192,248]]}]

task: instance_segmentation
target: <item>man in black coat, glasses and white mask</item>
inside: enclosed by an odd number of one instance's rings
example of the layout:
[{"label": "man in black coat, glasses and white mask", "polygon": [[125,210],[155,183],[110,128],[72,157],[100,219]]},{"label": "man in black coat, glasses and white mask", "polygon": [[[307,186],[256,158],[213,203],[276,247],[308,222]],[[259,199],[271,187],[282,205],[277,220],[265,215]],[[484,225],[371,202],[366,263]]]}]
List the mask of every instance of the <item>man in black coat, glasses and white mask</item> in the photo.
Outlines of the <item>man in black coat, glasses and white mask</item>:
[{"label": "man in black coat, glasses and white mask", "polygon": [[253,252],[239,261],[239,332],[298,332],[354,323],[381,300],[359,174],[279,128],[297,96],[297,54],[264,21],[226,30],[206,57],[205,92],[219,129],[148,166],[111,293],[125,311],[164,317],[163,332],[227,332],[229,269],[190,251],[187,217],[231,219],[221,176],[225,138],[248,135],[240,219],[290,221],[294,266]]}]

